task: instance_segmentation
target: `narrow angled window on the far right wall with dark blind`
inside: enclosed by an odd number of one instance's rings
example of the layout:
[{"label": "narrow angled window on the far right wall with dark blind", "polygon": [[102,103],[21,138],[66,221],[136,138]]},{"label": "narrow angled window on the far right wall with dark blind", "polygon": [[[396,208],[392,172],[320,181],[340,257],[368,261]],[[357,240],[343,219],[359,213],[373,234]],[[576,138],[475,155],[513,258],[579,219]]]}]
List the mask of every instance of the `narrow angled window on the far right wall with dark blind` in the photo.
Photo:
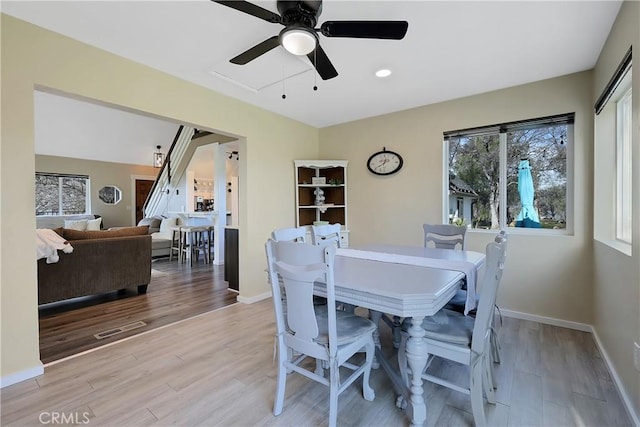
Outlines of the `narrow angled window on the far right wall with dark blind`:
[{"label": "narrow angled window on the far right wall with dark blind", "polygon": [[594,238],[631,255],[631,48],[595,105]]}]

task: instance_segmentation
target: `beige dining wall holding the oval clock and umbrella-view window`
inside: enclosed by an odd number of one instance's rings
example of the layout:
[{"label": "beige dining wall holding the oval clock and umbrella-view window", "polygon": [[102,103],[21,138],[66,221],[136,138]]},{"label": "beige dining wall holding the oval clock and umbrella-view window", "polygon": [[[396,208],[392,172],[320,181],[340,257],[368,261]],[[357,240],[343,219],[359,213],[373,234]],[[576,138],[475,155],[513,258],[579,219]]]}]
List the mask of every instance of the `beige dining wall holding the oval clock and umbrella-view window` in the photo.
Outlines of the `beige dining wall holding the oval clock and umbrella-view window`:
[{"label": "beige dining wall holding the oval clock and umbrella-view window", "polygon": [[[591,324],[591,77],[582,72],[322,129],[321,156],[349,160],[349,244],[421,245],[422,224],[442,221],[444,131],[575,112],[575,234],[510,231],[498,303]],[[398,174],[367,171],[367,158],[382,147],[403,156]],[[484,251],[493,234],[467,233],[469,248]]]}]

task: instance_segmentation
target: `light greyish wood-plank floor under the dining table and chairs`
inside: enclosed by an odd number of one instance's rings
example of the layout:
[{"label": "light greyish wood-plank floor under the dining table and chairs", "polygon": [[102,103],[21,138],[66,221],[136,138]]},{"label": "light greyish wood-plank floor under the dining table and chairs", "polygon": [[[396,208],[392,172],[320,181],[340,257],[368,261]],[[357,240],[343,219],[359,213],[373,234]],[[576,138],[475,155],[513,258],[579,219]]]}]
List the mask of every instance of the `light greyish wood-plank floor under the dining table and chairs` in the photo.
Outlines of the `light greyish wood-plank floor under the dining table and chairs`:
[{"label": "light greyish wood-plank floor under the dining table and chairs", "polygon": [[[326,425],[328,389],[300,375],[289,376],[284,411],[273,416],[274,330],[270,300],[234,304],[62,361],[2,389],[1,424],[41,425],[56,412],[89,425]],[[632,425],[590,334],[505,318],[500,335],[489,425]],[[440,369],[465,378],[448,363]],[[338,424],[408,425],[382,370],[372,386],[373,402],[358,382],[340,396]],[[467,396],[434,384],[425,391],[428,425],[472,425]]]}]

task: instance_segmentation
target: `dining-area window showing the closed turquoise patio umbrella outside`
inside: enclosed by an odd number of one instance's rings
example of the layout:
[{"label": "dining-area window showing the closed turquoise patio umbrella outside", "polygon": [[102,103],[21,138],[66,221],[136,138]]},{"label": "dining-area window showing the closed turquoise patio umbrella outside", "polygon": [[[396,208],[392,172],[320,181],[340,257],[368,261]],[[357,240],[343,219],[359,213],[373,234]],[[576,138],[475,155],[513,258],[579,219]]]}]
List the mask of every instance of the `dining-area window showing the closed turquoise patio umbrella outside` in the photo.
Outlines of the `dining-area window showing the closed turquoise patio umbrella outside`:
[{"label": "dining-area window showing the closed turquoise patio umbrella outside", "polygon": [[574,114],[445,132],[445,209],[478,229],[567,230]]}]

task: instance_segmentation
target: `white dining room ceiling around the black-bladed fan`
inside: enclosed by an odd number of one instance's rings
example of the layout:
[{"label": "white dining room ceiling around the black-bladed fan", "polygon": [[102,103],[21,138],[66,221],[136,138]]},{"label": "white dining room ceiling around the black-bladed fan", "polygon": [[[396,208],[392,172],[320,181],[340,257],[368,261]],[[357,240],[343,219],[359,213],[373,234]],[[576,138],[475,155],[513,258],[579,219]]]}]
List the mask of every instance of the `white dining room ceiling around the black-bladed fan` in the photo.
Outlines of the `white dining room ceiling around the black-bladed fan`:
[{"label": "white dining room ceiling around the black-bladed fan", "polygon": [[[275,1],[256,3],[277,11]],[[409,30],[401,41],[320,36],[339,76],[317,78],[314,92],[306,58],[280,47],[230,64],[282,26],[209,0],[1,3],[3,13],[316,127],[591,69],[620,5],[325,0],[319,24],[406,20]],[[381,67],[391,77],[374,77]]]}]

